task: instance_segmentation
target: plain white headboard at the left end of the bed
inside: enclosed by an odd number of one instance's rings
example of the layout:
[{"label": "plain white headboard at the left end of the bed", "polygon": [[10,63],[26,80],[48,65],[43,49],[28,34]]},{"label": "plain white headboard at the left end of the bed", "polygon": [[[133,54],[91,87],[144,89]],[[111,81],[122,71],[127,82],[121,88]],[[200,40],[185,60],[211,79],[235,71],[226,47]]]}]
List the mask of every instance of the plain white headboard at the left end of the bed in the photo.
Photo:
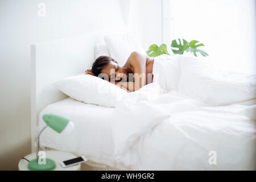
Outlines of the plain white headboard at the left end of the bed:
[{"label": "plain white headboard at the left end of the bed", "polygon": [[49,104],[67,96],[52,86],[63,77],[84,73],[94,61],[94,45],[103,34],[93,33],[31,45],[31,139],[36,134],[38,115]]}]

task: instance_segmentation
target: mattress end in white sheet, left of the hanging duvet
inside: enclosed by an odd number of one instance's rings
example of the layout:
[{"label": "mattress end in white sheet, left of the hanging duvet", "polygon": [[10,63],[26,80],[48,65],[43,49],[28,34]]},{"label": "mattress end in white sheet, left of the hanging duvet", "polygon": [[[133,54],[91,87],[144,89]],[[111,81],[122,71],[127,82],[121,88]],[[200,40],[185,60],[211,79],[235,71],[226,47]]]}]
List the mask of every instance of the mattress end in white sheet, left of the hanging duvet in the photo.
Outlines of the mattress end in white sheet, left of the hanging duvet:
[{"label": "mattress end in white sheet, left of the hanging duvet", "polygon": [[[46,124],[43,114],[68,117],[75,124],[70,133],[56,133],[49,127],[40,136],[40,146],[68,151],[77,156],[85,155],[91,166],[117,166],[112,158],[113,138],[109,120],[114,108],[85,104],[67,98],[48,105],[39,115],[38,130]],[[104,160],[101,160],[104,159]]]}]

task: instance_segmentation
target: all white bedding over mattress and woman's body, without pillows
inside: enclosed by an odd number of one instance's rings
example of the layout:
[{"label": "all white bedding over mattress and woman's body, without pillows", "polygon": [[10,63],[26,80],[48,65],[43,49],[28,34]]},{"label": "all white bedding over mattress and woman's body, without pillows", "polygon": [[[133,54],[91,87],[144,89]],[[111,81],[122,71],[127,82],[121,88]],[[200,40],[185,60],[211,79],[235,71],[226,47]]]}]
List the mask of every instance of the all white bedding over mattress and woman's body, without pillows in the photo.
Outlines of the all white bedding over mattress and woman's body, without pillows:
[{"label": "all white bedding over mattress and woman's body, without pillows", "polygon": [[41,145],[121,169],[256,169],[255,77],[225,75],[189,57],[161,59],[153,71],[162,69],[163,79],[154,75],[115,108],[72,98],[47,106],[39,129],[52,113],[71,118],[75,130],[46,129]]}]

